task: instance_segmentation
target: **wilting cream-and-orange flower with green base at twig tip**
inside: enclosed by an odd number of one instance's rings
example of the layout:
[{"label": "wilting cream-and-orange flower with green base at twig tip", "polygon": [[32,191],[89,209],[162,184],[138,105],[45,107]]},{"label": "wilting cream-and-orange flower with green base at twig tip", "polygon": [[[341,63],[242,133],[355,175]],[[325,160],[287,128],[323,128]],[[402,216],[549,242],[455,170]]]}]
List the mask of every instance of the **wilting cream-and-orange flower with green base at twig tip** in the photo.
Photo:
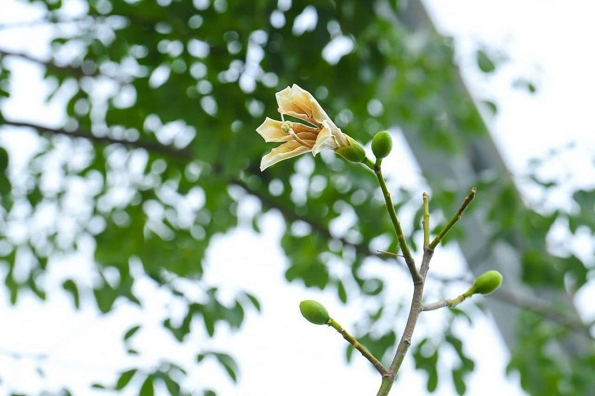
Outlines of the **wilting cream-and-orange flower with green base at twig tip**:
[{"label": "wilting cream-and-orange flower with green base at twig tip", "polygon": [[[278,91],[275,97],[277,97],[281,121],[267,117],[262,125],[256,128],[256,132],[267,142],[284,143],[262,157],[261,170],[308,151],[312,151],[312,155],[316,156],[324,148],[330,148],[344,156],[346,148],[349,148],[348,151],[358,151],[356,155],[358,160],[355,162],[364,159],[365,153],[361,145],[334,125],[311,93],[293,84],[291,88]],[[312,126],[285,121],[285,115],[299,118]]]}]

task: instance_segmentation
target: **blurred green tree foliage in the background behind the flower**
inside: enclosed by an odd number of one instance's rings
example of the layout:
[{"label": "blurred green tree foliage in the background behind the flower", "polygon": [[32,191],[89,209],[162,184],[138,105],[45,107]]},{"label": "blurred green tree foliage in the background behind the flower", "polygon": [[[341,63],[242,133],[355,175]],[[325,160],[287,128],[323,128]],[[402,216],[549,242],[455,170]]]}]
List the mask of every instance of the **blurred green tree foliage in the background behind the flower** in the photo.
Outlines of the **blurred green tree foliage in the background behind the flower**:
[{"label": "blurred green tree foliage in the background behind the flower", "polygon": [[[61,13],[61,0],[32,2],[47,9],[46,23],[74,27],[52,30],[50,58],[37,59],[53,87],[49,97],[65,86],[73,93],[65,107],[65,131],[38,128],[43,148],[30,160],[26,175],[11,175],[11,160],[0,147],[0,263],[12,303],[22,290],[44,299],[48,259],[76,250],[78,236],[85,235],[96,243],[94,271],[100,281],[92,290],[74,279],[64,281],[62,287],[77,308],[80,296],[89,293],[104,313],[118,299],[140,305],[130,268],[131,262],[140,262],[146,275],[187,305],[183,317],[163,323],[177,340],[184,340],[193,321],[202,322],[211,337],[220,322],[237,330],[246,306],[259,310],[257,296],[238,291],[226,305],[218,299],[217,285],[203,284],[201,278],[209,241],[237,225],[237,205],[245,195],[262,204],[252,219],[256,232],[268,210],[283,215],[281,246],[289,258],[288,281],[331,288],[343,303],[357,296],[382,296],[385,280],[367,277],[362,268],[376,255],[372,240],[392,240],[391,227],[367,171],[331,156],[283,161],[265,173],[258,170],[260,157],[271,147],[254,129],[277,112],[275,91],[292,83],[311,91],[343,131],[364,143],[381,129],[399,125],[414,129],[432,150],[456,160],[471,155],[465,152],[466,140],[488,138],[474,103],[461,90],[451,40],[406,28],[399,19],[400,2],[89,0],[84,15],[73,21]],[[304,28],[299,19],[306,14],[314,16],[314,23]],[[347,40],[352,49],[325,59],[325,49],[338,39]],[[11,56],[0,55],[0,96],[8,96]],[[477,52],[477,64],[486,73],[497,67],[484,49]],[[108,94],[98,94],[100,87],[107,87]],[[534,91],[532,87],[528,85]],[[14,125],[2,115],[0,122]],[[49,188],[43,183],[44,164],[64,142],[62,135],[71,132],[82,137],[72,144],[73,151],[84,154],[84,163],[62,163],[60,185]],[[88,186],[90,213],[70,213],[67,198],[74,182]],[[586,283],[592,268],[573,255],[552,256],[545,237],[556,221],[567,221],[573,233],[585,227],[595,232],[595,191],[575,193],[578,211],[537,213],[525,209],[512,180],[469,180],[469,186],[474,183],[481,194],[471,211],[490,224],[493,242],[516,246],[519,235],[527,242],[521,269],[525,283],[563,289],[571,278],[573,292]],[[464,193],[452,191],[447,182],[433,189],[437,213],[451,213]],[[115,199],[116,192],[124,193]],[[399,210],[411,193],[402,190],[395,197]],[[201,204],[190,209],[182,205],[196,199]],[[45,205],[74,220],[77,235],[63,235],[53,224],[24,239],[10,236],[11,224],[22,220],[19,213],[32,218]],[[351,210],[358,221],[342,233],[331,232],[331,222]],[[414,229],[406,227],[411,230],[408,237],[419,232],[421,212],[415,218]],[[464,237],[453,231],[448,239]],[[396,243],[384,248],[397,251]],[[26,280],[14,277],[15,266],[23,265],[17,256],[29,261]],[[329,271],[328,262],[334,260],[349,268],[347,276]],[[113,270],[115,281],[106,275]],[[186,297],[176,287],[180,279],[203,285],[205,298]],[[382,322],[395,313],[387,313],[382,299],[376,300],[356,335],[386,360],[397,329]],[[455,319],[464,315],[453,310],[446,330],[412,349],[415,365],[427,372],[430,392],[439,382],[443,347],[450,346],[460,360],[449,380],[458,394],[465,394],[466,375],[474,369],[463,341],[449,330]],[[534,326],[539,337],[534,337]],[[127,330],[124,341],[137,330]],[[509,368],[521,374],[521,384],[531,394],[587,394],[595,387],[595,365],[585,364],[593,361],[593,353],[563,367],[547,357],[549,343],[568,331],[542,316],[531,317],[527,327],[519,329],[522,338]],[[348,348],[347,359],[351,353]],[[230,354],[199,351],[196,361],[209,356],[236,381],[239,368]],[[154,372],[130,368],[115,384],[95,386],[119,390],[138,384],[140,395],[152,395],[159,382],[171,395],[179,395],[189,391],[178,384],[185,373],[174,362],[164,363]],[[214,395],[210,389],[203,391]]]}]

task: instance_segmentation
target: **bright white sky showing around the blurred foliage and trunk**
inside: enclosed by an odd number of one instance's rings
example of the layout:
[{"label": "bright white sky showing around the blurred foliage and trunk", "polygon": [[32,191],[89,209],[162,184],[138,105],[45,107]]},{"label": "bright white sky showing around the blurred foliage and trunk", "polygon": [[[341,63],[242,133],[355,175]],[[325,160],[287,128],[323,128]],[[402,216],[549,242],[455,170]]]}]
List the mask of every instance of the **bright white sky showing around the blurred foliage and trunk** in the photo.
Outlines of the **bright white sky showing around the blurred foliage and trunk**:
[{"label": "bright white sky showing around the blurred foliage and trunk", "polygon": [[[562,157],[556,166],[548,167],[544,175],[568,179],[569,185],[592,183],[595,180],[595,126],[591,94],[595,91],[595,75],[591,71],[595,69],[595,55],[590,48],[595,37],[592,23],[595,3],[537,0],[431,0],[426,3],[440,30],[455,36],[462,71],[474,95],[478,100],[490,99],[499,105],[499,113],[489,123],[513,172],[522,174],[532,157],[576,141],[577,148]],[[37,12],[31,9],[36,7],[0,0],[0,23],[35,19],[39,9]],[[0,31],[0,49],[21,49],[43,55],[46,47],[43,40],[39,40],[39,34],[43,31]],[[486,77],[475,68],[474,49],[478,43],[485,43],[488,49],[500,49],[509,57],[493,77]],[[64,116],[60,104],[48,107],[43,104],[41,95],[37,98],[30,94],[32,89],[39,89],[39,69],[24,64],[18,66],[14,70],[16,94],[3,104],[2,110],[14,118],[60,125]],[[516,77],[535,80],[537,94],[531,96],[512,88]],[[27,132],[4,128],[0,142],[14,145],[16,134],[21,136]],[[398,150],[404,149],[398,141],[395,143],[397,152],[392,156],[408,155],[406,151],[399,155]],[[402,182],[421,191],[422,180],[414,166],[411,175],[411,179]],[[530,186],[521,186],[531,197],[537,197]],[[550,203],[568,204],[564,189]],[[246,205],[249,207],[252,203]],[[70,300],[61,292],[50,292],[46,303],[24,295],[16,308],[8,305],[5,294],[0,295],[3,334],[0,338],[0,392],[35,392],[66,384],[73,394],[93,394],[88,388],[89,382],[110,384],[115,381],[117,370],[132,365],[151,368],[163,356],[190,363],[199,350],[218,349],[230,351],[237,357],[242,370],[239,384],[231,385],[220,368],[209,362],[190,376],[187,385],[213,387],[221,395],[297,396],[331,391],[345,396],[373,394],[379,381],[368,362],[354,354],[353,363],[345,365],[345,341],[328,328],[307,324],[297,309],[300,300],[320,300],[344,327],[352,329],[365,302],[355,300],[349,306],[342,306],[334,292],[320,293],[305,290],[300,284],[286,284],[283,277],[286,259],[278,247],[280,218],[277,214],[266,216],[262,229],[264,234],[256,236],[249,227],[240,227],[215,238],[208,251],[210,265],[205,281],[224,285],[224,299],[237,289],[245,289],[256,294],[263,306],[261,315],[248,312],[242,330],[235,335],[221,327],[218,336],[210,340],[203,334],[202,325],[197,325],[183,346],[172,341],[162,330],[161,321],[165,313],[175,312],[179,307],[168,300],[167,293],[155,290],[149,281],[141,280],[136,286],[145,310],[122,304],[108,316],[99,316],[92,303],[83,303],[82,311],[74,312]],[[592,239],[584,239],[577,248],[583,255],[592,255],[592,242]],[[48,284],[58,289],[68,274],[84,277],[91,248],[92,245],[87,246],[83,249],[86,253],[54,263]],[[262,255],[262,252],[267,254]],[[437,257],[453,263],[450,267],[453,274],[464,270],[456,249],[441,250]],[[370,271],[381,271],[384,277],[394,279],[394,284],[390,285],[392,293],[410,295],[411,286],[402,271],[388,266],[374,267]],[[578,296],[582,312],[591,318],[595,316],[595,308],[589,308],[587,301],[595,297],[594,289],[591,282]],[[421,338],[433,322],[440,320],[440,315],[440,312],[425,314],[415,337]],[[504,374],[508,356],[493,323],[481,314],[474,318],[472,328],[464,324],[458,326],[459,335],[465,337],[465,351],[474,357],[477,365],[468,381],[468,394],[523,395],[516,378],[506,378]],[[126,328],[137,323],[143,324],[133,340],[133,345],[143,351],[140,363],[127,357],[121,344]],[[399,323],[397,330],[402,325]],[[41,365],[46,371],[45,378],[35,372],[34,359],[15,360],[9,352],[48,354]],[[445,352],[441,359],[450,362],[452,354]],[[411,356],[406,359],[400,376],[402,379],[393,388],[394,394],[397,391],[424,392],[425,375],[415,372]],[[440,378],[443,381],[436,395],[455,394],[449,373]],[[491,384],[487,391],[486,383]],[[286,384],[290,384],[289,387]]]}]

